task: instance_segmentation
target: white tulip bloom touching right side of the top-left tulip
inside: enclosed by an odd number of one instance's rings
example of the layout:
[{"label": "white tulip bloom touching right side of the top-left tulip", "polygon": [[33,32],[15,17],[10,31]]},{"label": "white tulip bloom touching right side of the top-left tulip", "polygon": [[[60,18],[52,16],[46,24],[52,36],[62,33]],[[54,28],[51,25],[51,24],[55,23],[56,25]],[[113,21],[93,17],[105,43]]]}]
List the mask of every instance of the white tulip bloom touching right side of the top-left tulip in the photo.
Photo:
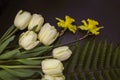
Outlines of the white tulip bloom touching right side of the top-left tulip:
[{"label": "white tulip bloom touching right side of the top-left tulip", "polygon": [[28,25],[28,30],[34,30],[35,32],[38,32],[41,29],[43,23],[44,18],[42,17],[42,15],[33,14]]}]

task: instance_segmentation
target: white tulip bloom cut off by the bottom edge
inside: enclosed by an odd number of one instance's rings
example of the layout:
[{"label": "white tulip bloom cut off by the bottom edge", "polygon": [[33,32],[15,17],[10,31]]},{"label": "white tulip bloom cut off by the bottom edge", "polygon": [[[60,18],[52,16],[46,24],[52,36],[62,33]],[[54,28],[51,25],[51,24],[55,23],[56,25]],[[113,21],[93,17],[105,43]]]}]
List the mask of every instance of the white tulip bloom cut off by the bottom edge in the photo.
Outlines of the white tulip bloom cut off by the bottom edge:
[{"label": "white tulip bloom cut off by the bottom edge", "polygon": [[41,80],[65,80],[65,76],[44,75],[44,77]]}]

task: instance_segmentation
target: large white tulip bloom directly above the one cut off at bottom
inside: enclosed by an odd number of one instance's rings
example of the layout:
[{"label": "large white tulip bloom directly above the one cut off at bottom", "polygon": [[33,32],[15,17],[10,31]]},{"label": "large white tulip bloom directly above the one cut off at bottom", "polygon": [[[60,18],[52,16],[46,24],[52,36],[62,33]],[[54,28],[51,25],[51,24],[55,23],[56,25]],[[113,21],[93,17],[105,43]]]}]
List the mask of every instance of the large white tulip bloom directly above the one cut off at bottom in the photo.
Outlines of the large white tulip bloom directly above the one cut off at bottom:
[{"label": "large white tulip bloom directly above the one cut off at bottom", "polygon": [[43,60],[41,65],[43,72],[48,75],[60,75],[64,70],[63,64],[57,59]]}]

